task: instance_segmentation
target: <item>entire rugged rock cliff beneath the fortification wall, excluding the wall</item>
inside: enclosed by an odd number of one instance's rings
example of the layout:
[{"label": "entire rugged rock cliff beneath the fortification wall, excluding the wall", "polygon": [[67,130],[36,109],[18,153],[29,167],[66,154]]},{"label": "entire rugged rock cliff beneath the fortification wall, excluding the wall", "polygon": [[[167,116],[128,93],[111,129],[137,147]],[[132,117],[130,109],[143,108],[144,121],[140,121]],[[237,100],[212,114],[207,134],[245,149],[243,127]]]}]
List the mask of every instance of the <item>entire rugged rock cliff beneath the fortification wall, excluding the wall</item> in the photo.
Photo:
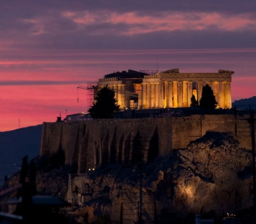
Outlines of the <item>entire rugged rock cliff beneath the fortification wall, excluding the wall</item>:
[{"label": "entire rugged rock cliff beneath the fortification wall, excluding the wall", "polygon": [[[253,204],[251,164],[251,151],[230,133],[207,132],[150,164],[112,164],[88,171],[91,196],[74,215],[80,223],[136,223],[139,217],[144,223],[187,223],[195,214],[216,219],[238,214]],[[37,191],[67,200],[71,171],[38,172]],[[77,189],[74,182],[74,197]]]}]

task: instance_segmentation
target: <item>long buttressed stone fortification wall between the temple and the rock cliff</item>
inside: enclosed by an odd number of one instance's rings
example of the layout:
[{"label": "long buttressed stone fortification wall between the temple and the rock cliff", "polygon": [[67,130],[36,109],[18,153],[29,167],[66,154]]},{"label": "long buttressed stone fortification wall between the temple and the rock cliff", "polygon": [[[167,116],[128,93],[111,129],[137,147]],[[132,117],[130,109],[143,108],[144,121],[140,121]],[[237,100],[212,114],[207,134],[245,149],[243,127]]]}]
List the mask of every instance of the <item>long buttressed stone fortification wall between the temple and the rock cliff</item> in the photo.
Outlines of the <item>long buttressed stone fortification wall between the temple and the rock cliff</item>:
[{"label": "long buttressed stone fortification wall between the temple and the rock cliff", "polygon": [[241,147],[251,148],[246,118],[234,115],[193,115],[144,119],[44,122],[40,155],[64,152],[66,165],[78,172],[99,164],[145,163],[174,148],[184,148],[207,131],[231,132]]}]

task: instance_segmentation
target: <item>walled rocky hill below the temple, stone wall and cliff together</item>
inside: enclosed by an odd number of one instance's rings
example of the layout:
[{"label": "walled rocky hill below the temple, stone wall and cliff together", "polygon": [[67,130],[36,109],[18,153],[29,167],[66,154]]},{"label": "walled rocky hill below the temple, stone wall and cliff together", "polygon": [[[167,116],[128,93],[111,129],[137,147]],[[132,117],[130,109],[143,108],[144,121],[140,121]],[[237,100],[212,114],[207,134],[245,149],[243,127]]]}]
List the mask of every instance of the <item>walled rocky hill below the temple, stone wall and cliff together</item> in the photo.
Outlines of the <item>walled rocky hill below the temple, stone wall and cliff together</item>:
[{"label": "walled rocky hill below the temple, stone wall and cliff together", "polygon": [[[77,167],[73,179],[52,192],[80,203],[74,214],[88,223],[99,216],[113,221],[108,223],[137,222],[139,155],[145,223],[188,224],[196,214],[218,220],[227,212],[245,216],[253,202],[248,118],[204,114],[44,122],[40,155],[62,155],[63,165]],[[38,177],[39,189],[62,180],[52,173],[48,180]],[[83,196],[85,189],[77,193],[80,182],[92,189],[89,196]]]}]

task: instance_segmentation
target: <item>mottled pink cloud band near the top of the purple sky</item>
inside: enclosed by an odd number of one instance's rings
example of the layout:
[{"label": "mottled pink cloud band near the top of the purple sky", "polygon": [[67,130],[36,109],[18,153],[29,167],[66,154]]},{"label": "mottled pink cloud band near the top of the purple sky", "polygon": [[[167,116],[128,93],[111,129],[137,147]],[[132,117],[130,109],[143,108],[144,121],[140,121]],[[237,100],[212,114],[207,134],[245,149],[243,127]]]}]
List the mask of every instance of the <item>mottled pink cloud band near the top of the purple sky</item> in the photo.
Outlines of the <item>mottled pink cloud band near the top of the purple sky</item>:
[{"label": "mottled pink cloud band near the top of the purple sky", "polygon": [[[111,27],[109,30],[121,35],[137,35],[156,31],[172,32],[176,30],[255,30],[256,20],[252,19],[250,14],[228,15],[223,13],[173,13],[171,11],[162,11],[150,16],[140,15],[136,12],[116,13],[111,11],[99,11],[98,13],[66,12],[64,17],[73,20],[80,26],[91,26],[92,24],[108,23],[112,25],[125,24],[125,29]],[[97,29],[100,32],[108,32],[106,29]],[[92,33],[92,34],[96,34]]]}]

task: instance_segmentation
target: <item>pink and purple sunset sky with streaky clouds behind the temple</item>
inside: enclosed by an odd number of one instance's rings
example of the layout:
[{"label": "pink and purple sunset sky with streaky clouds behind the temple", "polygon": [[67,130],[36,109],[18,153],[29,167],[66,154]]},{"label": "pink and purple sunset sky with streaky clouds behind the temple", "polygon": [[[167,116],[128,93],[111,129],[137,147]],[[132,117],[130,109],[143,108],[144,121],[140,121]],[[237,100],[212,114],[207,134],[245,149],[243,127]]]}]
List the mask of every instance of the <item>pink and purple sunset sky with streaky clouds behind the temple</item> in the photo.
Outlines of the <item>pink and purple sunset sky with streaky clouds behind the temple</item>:
[{"label": "pink and purple sunset sky with streaky clouds behind the temple", "polygon": [[256,95],[255,0],[2,0],[0,21],[0,131],[86,112],[77,86],[113,71],[232,70],[232,102]]}]

